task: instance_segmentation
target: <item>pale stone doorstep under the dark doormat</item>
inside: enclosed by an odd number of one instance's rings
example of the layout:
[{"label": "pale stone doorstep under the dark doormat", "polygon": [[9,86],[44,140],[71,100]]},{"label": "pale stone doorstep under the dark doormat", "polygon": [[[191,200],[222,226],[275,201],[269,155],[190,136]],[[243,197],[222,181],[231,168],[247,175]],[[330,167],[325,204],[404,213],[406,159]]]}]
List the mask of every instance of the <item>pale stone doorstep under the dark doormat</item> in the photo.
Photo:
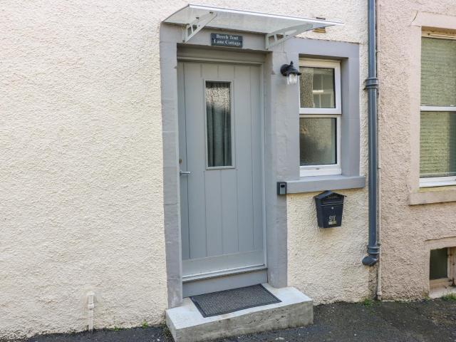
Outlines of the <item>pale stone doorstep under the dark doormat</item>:
[{"label": "pale stone doorstep under the dark doormat", "polygon": [[306,326],[314,322],[312,300],[294,287],[276,289],[262,284],[278,303],[203,317],[190,298],[182,306],[167,309],[166,323],[175,342],[208,341],[259,331]]}]

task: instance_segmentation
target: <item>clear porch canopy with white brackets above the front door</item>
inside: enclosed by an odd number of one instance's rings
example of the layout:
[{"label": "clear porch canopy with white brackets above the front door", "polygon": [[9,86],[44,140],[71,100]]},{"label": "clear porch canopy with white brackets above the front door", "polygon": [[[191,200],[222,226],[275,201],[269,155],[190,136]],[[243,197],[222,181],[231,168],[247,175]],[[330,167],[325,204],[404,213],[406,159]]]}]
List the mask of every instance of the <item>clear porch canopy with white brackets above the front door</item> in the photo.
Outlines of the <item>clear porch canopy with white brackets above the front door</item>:
[{"label": "clear porch canopy with white brackets above the front door", "polygon": [[266,49],[305,31],[342,24],[336,21],[279,16],[192,4],[176,11],[163,22],[182,25],[182,41],[185,43],[204,27],[264,33]]}]

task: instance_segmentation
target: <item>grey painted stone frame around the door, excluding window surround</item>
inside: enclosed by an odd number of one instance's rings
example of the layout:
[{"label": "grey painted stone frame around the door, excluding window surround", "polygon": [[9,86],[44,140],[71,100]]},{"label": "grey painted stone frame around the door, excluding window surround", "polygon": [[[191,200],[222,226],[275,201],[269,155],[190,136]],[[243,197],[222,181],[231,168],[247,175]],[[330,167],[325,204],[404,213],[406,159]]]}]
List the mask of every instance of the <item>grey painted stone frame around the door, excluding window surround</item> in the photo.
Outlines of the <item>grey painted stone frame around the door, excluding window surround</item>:
[{"label": "grey painted stone frame around the door, excluding window surround", "polygon": [[[298,51],[285,52],[282,46],[266,51],[264,35],[243,32],[242,48],[210,46],[214,30],[203,28],[191,43],[182,43],[180,26],[160,25],[160,78],[162,105],[163,219],[167,267],[167,301],[172,308],[182,304],[182,250],[180,237],[180,165],[178,152],[177,50],[184,47],[185,57],[201,56],[211,51],[218,61],[264,63],[264,207],[266,211],[267,282],[276,288],[287,286],[287,213],[286,196],[278,196],[276,182],[299,179],[299,135],[290,134],[296,127],[296,87],[286,87],[280,67],[290,59],[298,60]],[[239,34],[234,31],[223,33]],[[182,55],[180,55],[182,56]],[[199,58],[204,60],[204,58]],[[157,66],[158,68],[158,66]],[[158,179],[157,179],[158,181]],[[266,250],[266,249],[265,249]]]}]

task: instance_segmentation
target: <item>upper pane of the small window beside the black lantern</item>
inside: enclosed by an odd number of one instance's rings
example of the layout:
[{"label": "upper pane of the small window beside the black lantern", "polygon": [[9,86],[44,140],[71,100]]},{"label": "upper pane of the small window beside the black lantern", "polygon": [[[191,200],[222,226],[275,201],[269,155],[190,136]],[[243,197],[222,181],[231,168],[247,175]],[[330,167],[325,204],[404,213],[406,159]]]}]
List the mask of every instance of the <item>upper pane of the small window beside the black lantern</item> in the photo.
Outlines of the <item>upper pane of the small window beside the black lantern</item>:
[{"label": "upper pane of the small window beside the black lantern", "polygon": [[301,66],[301,108],[336,108],[334,69]]}]

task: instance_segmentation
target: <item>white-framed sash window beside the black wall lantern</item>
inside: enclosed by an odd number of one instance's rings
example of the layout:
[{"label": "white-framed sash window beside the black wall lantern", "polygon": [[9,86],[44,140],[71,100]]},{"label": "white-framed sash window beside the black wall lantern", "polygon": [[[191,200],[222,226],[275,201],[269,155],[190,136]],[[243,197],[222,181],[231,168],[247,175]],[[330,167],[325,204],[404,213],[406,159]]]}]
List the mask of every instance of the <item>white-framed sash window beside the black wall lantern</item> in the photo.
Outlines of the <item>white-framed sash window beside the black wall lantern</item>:
[{"label": "white-framed sash window beside the black wall lantern", "polygon": [[300,175],[340,175],[341,64],[299,61]]}]

